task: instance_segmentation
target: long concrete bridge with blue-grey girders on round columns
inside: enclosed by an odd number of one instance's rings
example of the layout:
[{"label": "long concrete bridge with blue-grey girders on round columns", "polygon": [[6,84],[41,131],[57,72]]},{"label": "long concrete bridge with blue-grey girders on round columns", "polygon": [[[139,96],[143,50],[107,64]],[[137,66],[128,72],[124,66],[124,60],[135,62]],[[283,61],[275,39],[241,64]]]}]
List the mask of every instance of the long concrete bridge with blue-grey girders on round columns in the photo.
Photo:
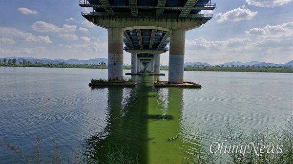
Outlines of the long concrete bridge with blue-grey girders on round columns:
[{"label": "long concrete bridge with blue-grey girders on round columns", "polygon": [[144,67],[160,73],[160,54],[169,51],[169,83],[184,82],[185,33],[212,18],[210,0],[80,0],[93,11],[82,16],[108,30],[108,80],[123,81],[123,51],[131,73]]}]

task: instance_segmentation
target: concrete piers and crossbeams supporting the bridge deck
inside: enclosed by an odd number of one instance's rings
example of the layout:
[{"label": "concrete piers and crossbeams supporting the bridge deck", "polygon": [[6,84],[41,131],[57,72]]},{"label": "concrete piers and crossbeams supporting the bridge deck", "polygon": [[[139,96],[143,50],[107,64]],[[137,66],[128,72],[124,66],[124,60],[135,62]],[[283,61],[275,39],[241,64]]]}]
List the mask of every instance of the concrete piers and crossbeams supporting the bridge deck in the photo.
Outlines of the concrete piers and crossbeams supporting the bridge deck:
[{"label": "concrete piers and crossbeams supporting the bridge deck", "polygon": [[[84,15],[95,25],[108,29],[108,80],[123,80],[123,31],[131,29],[157,29],[170,33],[169,46],[169,83],[184,82],[184,49],[185,33],[188,30],[198,28],[205,23],[204,18],[124,18],[124,17],[104,17],[90,13]],[[132,52],[134,51],[134,52]],[[129,53],[152,53],[155,54],[153,71],[159,73],[159,55],[162,54],[153,49],[126,49]],[[156,57],[157,56],[157,57]],[[135,57],[132,58],[135,60]],[[136,70],[143,68],[140,65],[140,59],[137,57]],[[135,64],[132,63],[132,72],[135,73]],[[138,70],[139,69],[139,70]]]}]

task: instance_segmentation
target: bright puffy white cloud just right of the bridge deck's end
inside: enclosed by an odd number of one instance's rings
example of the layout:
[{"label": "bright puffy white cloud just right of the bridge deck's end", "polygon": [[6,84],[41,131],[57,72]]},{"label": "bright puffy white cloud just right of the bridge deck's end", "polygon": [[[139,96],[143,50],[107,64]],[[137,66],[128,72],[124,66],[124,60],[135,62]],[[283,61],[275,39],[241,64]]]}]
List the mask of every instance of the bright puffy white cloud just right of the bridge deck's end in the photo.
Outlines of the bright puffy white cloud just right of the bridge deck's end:
[{"label": "bright puffy white cloud just right of the bridge deck's end", "polygon": [[245,9],[245,7],[246,6],[242,6],[242,8],[238,7],[237,9],[230,10],[224,14],[216,14],[216,17],[220,17],[217,22],[249,20],[257,14],[257,12]]}]

